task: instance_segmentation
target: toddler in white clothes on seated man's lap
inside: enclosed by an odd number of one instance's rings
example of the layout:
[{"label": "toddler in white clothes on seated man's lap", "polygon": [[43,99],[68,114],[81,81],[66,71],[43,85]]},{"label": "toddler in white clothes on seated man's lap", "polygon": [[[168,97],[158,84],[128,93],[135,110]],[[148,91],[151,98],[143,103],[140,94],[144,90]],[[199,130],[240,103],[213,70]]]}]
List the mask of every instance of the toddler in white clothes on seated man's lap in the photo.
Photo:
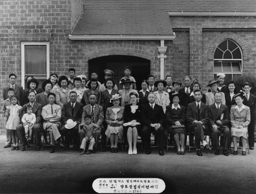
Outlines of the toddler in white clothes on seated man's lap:
[{"label": "toddler in white clothes on seated man's lap", "polygon": [[22,117],[22,122],[23,122],[23,126],[25,128],[25,137],[28,140],[31,140],[32,128],[35,124],[36,117],[35,117],[35,114],[32,113],[31,105],[26,106],[26,112],[27,113],[25,113]]}]

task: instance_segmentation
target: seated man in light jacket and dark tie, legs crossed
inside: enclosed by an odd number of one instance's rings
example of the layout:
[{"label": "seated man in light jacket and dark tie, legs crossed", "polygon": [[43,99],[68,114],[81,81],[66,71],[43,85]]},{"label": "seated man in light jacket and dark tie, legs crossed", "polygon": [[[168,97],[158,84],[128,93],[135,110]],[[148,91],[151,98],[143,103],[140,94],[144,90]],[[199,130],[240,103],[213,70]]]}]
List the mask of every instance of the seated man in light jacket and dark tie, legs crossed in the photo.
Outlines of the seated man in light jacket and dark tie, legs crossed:
[{"label": "seated man in light jacket and dark tie, legs crossed", "polygon": [[56,97],[54,93],[50,92],[47,97],[49,104],[42,107],[42,118],[45,120],[44,123],[42,123],[42,126],[44,130],[50,132],[50,153],[54,153],[55,141],[58,141],[60,147],[64,147],[59,133],[59,128],[61,126],[61,106],[54,103]]}]

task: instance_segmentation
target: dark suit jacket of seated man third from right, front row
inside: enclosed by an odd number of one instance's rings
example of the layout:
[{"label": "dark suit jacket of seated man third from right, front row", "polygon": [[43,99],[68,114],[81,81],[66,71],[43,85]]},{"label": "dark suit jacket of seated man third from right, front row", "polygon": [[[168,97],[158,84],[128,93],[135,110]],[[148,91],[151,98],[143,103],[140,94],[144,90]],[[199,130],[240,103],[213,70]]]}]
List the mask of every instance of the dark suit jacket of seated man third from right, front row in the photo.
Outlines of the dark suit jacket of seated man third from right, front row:
[{"label": "dark suit jacket of seated man third from right, front row", "polygon": [[[203,123],[203,125],[206,125],[209,120],[209,111],[208,111],[208,106],[203,102],[201,102],[199,114],[200,114],[200,121]],[[187,112],[185,117],[189,124],[193,124],[195,120],[198,120],[198,111],[197,111],[196,102],[192,102],[187,105]]]}]

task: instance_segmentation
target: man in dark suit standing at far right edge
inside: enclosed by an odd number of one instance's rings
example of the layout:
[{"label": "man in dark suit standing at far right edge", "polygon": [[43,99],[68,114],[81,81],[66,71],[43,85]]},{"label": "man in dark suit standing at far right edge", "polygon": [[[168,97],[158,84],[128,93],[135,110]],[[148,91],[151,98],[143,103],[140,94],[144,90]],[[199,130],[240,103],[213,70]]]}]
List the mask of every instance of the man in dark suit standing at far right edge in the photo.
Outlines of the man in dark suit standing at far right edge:
[{"label": "man in dark suit standing at far right edge", "polygon": [[251,84],[245,82],[243,84],[243,90],[245,92],[244,105],[250,107],[251,122],[248,125],[248,143],[249,149],[254,149],[254,126],[255,126],[255,114],[256,114],[256,97],[250,93]]}]

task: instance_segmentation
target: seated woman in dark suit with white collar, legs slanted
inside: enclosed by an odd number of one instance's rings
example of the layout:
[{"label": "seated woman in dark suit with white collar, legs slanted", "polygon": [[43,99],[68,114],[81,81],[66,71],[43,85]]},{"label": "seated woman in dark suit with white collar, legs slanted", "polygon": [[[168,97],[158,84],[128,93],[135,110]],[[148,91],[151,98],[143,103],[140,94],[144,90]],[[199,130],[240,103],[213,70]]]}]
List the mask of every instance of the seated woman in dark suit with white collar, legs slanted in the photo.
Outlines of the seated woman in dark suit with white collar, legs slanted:
[{"label": "seated woman in dark suit with white collar, legs slanted", "polygon": [[[177,144],[178,155],[185,154],[185,107],[179,104],[179,94],[173,95],[173,104],[166,106],[166,119]],[[181,145],[180,145],[181,142]]]}]

